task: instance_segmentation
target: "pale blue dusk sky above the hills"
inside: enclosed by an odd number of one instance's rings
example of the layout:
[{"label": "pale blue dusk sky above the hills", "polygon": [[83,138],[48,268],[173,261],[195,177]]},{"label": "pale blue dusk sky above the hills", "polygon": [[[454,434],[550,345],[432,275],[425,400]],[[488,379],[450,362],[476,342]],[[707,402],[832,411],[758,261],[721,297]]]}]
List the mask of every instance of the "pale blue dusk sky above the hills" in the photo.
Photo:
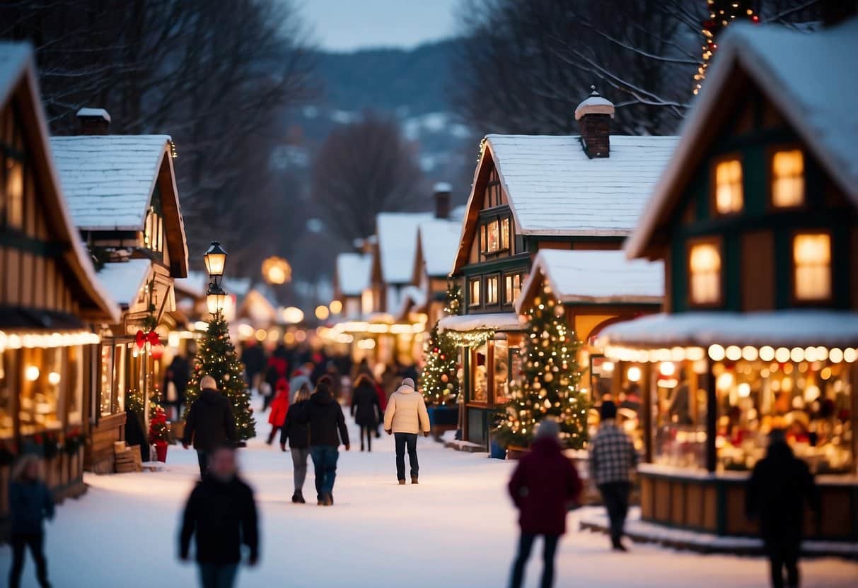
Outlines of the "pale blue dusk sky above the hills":
[{"label": "pale blue dusk sky above the hills", "polygon": [[460,0],[296,0],[323,49],[414,47],[456,33]]}]

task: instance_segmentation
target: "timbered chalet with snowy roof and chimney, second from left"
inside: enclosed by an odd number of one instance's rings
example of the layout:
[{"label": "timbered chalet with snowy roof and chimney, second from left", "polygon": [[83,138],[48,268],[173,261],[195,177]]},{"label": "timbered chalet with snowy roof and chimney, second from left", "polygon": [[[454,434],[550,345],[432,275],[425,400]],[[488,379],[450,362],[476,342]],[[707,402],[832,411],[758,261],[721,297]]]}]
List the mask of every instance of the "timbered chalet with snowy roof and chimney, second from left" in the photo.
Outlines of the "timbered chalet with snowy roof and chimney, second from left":
[{"label": "timbered chalet with snowy roof and chimney, second from left", "polygon": [[[100,345],[88,469],[113,471],[124,440],[126,397],[144,404],[163,380],[160,345],[175,321],[173,280],[188,273],[188,249],[168,135],[109,135],[110,115],[78,112],[82,135],[51,138],[72,219],[95,258],[99,279],[122,308]],[[156,333],[160,345],[143,343]]]}]

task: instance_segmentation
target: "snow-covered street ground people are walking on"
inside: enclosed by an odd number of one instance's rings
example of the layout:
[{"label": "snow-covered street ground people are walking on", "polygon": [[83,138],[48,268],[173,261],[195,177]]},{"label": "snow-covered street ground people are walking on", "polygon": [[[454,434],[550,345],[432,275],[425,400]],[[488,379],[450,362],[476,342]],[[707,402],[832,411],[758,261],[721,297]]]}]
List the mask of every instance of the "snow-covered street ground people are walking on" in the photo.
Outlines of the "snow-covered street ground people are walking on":
[{"label": "snow-covered street ground people are walking on", "polygon": [[[258,426],[262,435],[269,425]],[[373,440],[372,453],[341,452],[336,505],[293,505],[292,461],[280,447],[251,441],[241,452],[245,477],[257,491],[262,561],[239,574],[239,586],[386,586],[473,588],[505,585],[517,541],[516,514],[505,495],[512,464],[458,453],[420,438],[420,485],[399,486],[393,444]],[[88,493],[66,501],[47,528],[47,555],[57,588],[196,584],[196,568],[176,558],[178,518],[196,479],[196,454],[171,447],[166,471],[88,475]],[[312,498],[312,473],[305,495]],[[574,513],[570,530],[577,529]],[[528,584],[537,585],[535,549]],[[10,549],[0,547],[5,579]],[[558,555],[556,585],[695,586],[767,585],[761,558],[697,555],[651,545],[628,554],[608,549],[607,538],[571,531]],[[802,563],[803,585],[858,585],[858,563],[815,559]],[[27,559],[25,588],[36,586]]]}]

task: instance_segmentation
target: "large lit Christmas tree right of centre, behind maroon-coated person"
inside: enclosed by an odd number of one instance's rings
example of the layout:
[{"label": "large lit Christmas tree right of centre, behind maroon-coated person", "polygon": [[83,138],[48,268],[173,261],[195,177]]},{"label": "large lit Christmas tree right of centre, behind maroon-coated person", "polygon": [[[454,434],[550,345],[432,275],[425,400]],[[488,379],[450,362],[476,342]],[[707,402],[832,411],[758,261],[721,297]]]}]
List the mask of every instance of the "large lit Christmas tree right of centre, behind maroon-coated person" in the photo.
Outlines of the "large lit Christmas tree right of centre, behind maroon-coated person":
[{"label": "large lit Christmas tree right of centre, behind maroon-coated person", "polygon": [[527,447],[537,423],[554,417],[565,447],[580,449],[587,441],[587,400],[578,387],[581,343],[566,327],[563,305],[546,288],[527,312],[527,357],[521,381],[511,386],[511,399],[495,428],[501,445]]}]

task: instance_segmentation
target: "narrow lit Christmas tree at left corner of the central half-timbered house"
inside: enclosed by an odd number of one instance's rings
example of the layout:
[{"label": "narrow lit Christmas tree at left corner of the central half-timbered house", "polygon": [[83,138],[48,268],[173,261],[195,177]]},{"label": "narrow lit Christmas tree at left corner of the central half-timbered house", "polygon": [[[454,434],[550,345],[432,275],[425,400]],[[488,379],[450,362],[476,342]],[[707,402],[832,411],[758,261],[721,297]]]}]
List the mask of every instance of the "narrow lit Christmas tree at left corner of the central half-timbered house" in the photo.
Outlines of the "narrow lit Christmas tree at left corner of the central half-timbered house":
[{"label": "narrow lit Christmas tree at left corner of the central half-timbered house", "polygon": [[[462,308],[462,287],[454,282],[447,285],[447,315],[458,315]],[[430,406],[443,405],[444,399],[459,392],[458,369],[459,348],[456,342],[438,325],[432,327],[424,346],[426,365],[420,374],[420,391]]]}]

